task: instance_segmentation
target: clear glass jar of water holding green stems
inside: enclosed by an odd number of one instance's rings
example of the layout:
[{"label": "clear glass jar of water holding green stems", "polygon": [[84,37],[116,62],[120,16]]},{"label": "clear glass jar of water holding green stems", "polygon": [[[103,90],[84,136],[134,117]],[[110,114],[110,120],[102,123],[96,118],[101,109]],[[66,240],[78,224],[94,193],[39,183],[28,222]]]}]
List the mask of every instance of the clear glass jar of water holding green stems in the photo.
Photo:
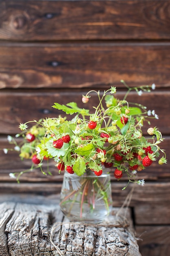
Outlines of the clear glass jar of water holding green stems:
[{"label": "clear glass jar of water holding green stems", "polygon": [[70,221],[102,222],[112,209],[110,173],[96,176],[89,170],[77,176],[65,171],[60,207]]}]

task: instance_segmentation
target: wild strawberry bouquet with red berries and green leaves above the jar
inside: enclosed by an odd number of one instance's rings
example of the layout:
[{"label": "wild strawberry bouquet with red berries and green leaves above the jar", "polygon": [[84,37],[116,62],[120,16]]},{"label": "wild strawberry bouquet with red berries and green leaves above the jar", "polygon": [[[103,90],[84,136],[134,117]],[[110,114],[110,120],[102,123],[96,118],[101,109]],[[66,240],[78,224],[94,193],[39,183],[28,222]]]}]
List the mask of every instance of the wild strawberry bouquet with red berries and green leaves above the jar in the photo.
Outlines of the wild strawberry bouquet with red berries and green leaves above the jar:
[{"label": "wild strawberry bouquet with red berries and green leaves above the jar", "polygon": [[[75,102],[54,103],[52,107],[61,110],[62,116],[34,120],[35,125],[31,128],[28,124],[32,121],[20,124],[22,144],[16,145],[13,138],[10,143],[15,144],[22,159],[32,159],[33,165],[26,171],[40,168],[47,175],[43,170],[44,161],[53,159],[59,172],[82,176],[90,170],[100,176],[105,167],[113,170],[116,179],[127,175],[128,184],[137,182],[143,186],[144,179],[136,180],[136,173],[157,159],[159,164],[167,162],[165,151],[159,147],[163,138],[157,127],[150,126],[149,119],[158,119],[155,111],[147,111],[145,106],[137,103],[129,104],[126,98],[132,90],[141,95],[143,91],[155,89],[155,84],[130,88],[124,81],[122,83],[127,88],[122,100],[115,97],[114,86],[102,94],[91,90],[83,95],[82,101],[87,106],[91,94],[97,94],[98,106],[93,107],[93,112],[79,108]],[[144,121],[148,122],[149,138],[142,134]],[[10,175],[19,180],[21,173]]]}]

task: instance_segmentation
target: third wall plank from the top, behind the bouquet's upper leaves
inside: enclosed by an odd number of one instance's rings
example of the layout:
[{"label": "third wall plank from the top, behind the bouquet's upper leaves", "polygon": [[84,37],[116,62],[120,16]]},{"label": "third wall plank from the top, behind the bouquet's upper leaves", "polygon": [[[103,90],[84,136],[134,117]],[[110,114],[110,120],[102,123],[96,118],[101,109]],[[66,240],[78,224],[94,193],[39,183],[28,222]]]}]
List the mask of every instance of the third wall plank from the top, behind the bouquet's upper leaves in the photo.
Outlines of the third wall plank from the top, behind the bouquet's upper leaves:
[{"label": "third wall plank from the top, behind the bouquet's upper leaves", "polygon": [[[106,88],[105,88],[106,89]],[[109,87],[108,87],[109,89]],[[26,121],[39,120],[46,117],[58,117],[65,113],[61,110],[52,108],[54,102],[66,104],[76,101],[80,108],[88,108],[93,111],[93,106],[98,105],[98,96],[91,94],[91,101],[87,105],[82,103],[82,94],[86,94],[87,90],[57,90],[57,91],[1,91],[0,92],[0,133],[16,134],[20,132],[18,128],[20,123]],[[102,92],[102,91],[101,91]],[[117,90],[115,97],[123,99],[126,91]],[[138,96],[136,92],[132,92],[127,100],[129,102],[140,103],[147,107],[147,110],[155,110],[159,119],[150,119],[151,126],[157,126],[163,135],[169,135],[170,122],[170,91],[156,90],[150,93],[144,93]],[[15,118],[14,118],[15,117]],[[72,117],[68,117],[72,118]],[[31,126],[31,124],[30,124]],[[146,129],[150,125],[145,123],[143,132],[147,134]]]}]

